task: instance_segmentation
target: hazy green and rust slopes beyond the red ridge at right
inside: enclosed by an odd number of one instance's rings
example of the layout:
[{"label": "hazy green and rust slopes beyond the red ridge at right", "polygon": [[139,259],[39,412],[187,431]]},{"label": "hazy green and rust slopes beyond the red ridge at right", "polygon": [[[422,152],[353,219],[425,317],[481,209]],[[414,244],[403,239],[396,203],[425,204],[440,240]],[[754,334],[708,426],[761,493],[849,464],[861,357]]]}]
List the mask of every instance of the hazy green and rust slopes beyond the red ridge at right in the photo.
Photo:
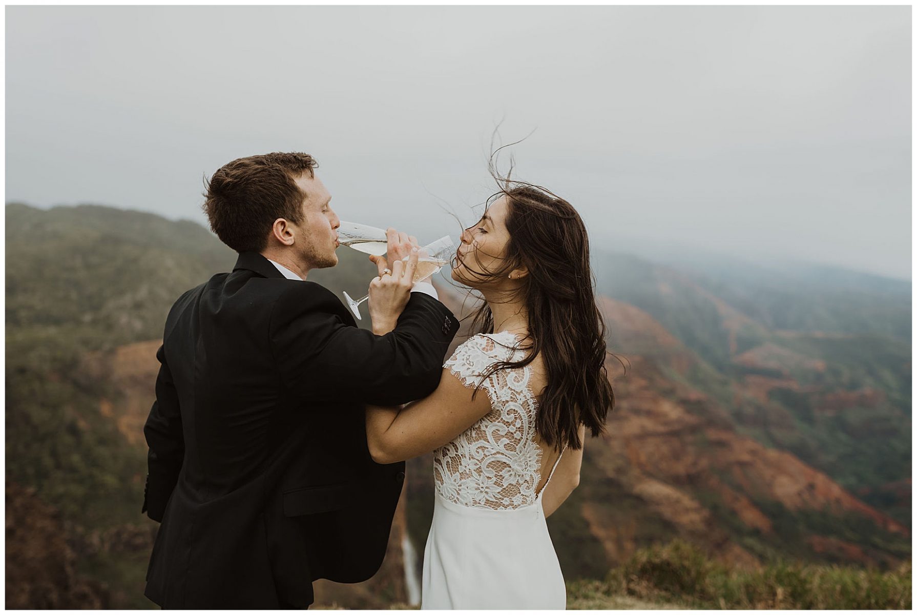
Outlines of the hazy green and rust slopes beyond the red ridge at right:
[{"label": "hazy green and rust slopes beyond the red ridge at right", "polygon": [[[685,259],[691,268],[613,252],[593,261],[603,294],[646,312],[696,357],[661,362],[669,377],[713,397],[740,432],[910,523],[910,503],[876,491],[911,475],[910,284],[801,265],[781,278],[766,266]],[[760,298],[751,311],[748,297]],[[772,329],[775,321],[801,329]],[[655,339],[634,346],[614,326],[610,340],[624,352],[667,348]]]}]

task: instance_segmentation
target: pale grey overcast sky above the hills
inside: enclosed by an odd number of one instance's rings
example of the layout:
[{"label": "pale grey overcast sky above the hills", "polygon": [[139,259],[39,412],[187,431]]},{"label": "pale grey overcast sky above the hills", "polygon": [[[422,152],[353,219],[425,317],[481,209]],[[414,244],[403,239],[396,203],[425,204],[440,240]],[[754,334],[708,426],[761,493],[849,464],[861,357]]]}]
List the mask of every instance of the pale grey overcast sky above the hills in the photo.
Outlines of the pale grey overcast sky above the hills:
[{"label": "pale grey overcast sky above the hills", "polygon": [[593,241],[911,278],[910,6],[7,6],[6,200],[205,224],[306,151],[342,219],[433,240],[519,177]]}]

